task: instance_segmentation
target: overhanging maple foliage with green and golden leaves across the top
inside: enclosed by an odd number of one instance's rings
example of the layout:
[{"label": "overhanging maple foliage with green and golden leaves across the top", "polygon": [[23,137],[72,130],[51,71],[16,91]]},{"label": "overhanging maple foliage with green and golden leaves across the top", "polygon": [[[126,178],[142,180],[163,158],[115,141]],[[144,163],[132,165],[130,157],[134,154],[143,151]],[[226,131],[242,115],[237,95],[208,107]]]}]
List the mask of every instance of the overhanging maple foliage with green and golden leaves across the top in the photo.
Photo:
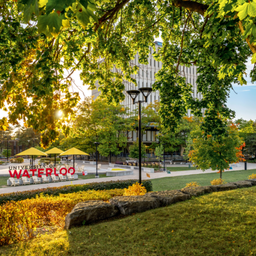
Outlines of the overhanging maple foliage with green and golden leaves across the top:
[{"label": "overhanging maple foliage with green and golden leaves across the top", "polygon": [[[123,79],[137,83],[135,53],[146,65],[150,46],[163,63],[153,85],[161,96],[163,125],[174,131],[188,109],[197,116],[205,109],[205,134],[225,134],[223,120],[234,117],[226,105],[232,83],[246,83],[245,63],[256,62],[253,6],[238,0],[6,0],[0,14],[0,107],[9,116],[0,129],[23,119],[42,132],[44,147],[61,129],[67,135],[71,126],[65,122],[75,117],[79,101],[78,93],[70,92],[74,71],[82,70],[90,89],[98,80],[101,97],[120,102]],[[156,50],[160,34],[163,47]],[[193,99],[193,85],[183,73],[194,65],[202,100]],[[254,82],[254,68],[250,76]]]}]

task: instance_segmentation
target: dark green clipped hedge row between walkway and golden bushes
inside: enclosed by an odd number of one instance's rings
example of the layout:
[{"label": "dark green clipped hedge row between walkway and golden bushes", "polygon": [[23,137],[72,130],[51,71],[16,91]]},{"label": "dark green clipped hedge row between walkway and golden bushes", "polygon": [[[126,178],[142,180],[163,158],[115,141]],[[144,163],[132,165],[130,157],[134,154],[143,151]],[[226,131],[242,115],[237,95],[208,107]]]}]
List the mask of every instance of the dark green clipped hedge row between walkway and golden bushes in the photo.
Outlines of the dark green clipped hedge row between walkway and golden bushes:
[{"label": "dark green clipped hedge row between walkway and golden bushes", "polygon": [[[61,187],[48,187],[41,189],[34,189],[28,191],[13,192],[7,194],[0,194],[0,205],[8,201],[21,201],[25,199],[36,198],[38,195],[52,195],[59,196],[60,194],[75,193],[78,191],[87,190],[109,190],[115,188],[129,188],[138,180],[117,180],[117,181],[105,181],[105,182],[92,182],[87,184],[67,185]],[[142,180],[143,186],[147,189],[147,192],[153,191],[152,182],[150,180]]]}]

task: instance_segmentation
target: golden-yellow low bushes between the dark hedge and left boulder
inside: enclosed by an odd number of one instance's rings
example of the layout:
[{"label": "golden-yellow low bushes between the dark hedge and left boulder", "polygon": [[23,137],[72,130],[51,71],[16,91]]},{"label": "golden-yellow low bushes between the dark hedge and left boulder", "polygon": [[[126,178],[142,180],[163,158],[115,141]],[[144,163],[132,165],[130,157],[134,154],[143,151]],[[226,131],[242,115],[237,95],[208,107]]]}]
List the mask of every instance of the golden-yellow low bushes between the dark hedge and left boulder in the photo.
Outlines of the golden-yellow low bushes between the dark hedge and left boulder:
[{"label": "golden-yellow low bushes between the dark hedge and left boulder", "polygon": [[88,190],[59,196],[40,195],[34,199],[8,202],[0,206],[0,246],[33,237],[33,229],[36,227],[47,225],[63,228],[67,213],[79,202],[108,201],[123,194],[124,189]]}]

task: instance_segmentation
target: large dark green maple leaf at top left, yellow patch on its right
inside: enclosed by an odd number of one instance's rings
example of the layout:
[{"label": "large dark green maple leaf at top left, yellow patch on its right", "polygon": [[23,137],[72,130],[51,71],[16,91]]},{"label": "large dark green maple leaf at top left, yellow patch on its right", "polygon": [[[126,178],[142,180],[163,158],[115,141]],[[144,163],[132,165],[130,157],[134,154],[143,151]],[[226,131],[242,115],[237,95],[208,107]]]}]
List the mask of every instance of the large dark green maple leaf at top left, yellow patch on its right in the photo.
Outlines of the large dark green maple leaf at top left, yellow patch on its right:
[{"label": "large dark green maple leaf at top left, yellow patch on its right", "polygon": [[50,37],[49,33],[57,37],[62,27],[69,27],[69,21],[64,14],[59,15],[53,12],[49,15],[41,15],[38,17],[38,33],[44,33],[47,37]]}]

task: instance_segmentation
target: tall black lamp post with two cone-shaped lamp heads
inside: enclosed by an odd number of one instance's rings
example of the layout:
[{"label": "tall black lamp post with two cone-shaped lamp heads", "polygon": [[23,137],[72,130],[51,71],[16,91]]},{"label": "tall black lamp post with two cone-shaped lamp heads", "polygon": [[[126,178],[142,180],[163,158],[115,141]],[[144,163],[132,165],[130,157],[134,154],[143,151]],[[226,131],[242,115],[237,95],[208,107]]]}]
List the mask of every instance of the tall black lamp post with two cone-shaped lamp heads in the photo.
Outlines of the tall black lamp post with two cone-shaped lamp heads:
[{"label": "tall black lamp post with two cone-shaped lamp heads", "polygon": [[[132,103],[138,103],[139,105],[139,115],[138,115],[138,120],[139,120],[139,183],[141,184],[141,103],[147,102],[147,98],[150,94],[152,89],[150,87],[141,87],[138,90],[129,90],[126,91],[127,94],[130,95],[132,98]],[[138,97],[138,95],[142,93],[144,96],[145,100],[138,100],[135,102],[135,99]]]}]

